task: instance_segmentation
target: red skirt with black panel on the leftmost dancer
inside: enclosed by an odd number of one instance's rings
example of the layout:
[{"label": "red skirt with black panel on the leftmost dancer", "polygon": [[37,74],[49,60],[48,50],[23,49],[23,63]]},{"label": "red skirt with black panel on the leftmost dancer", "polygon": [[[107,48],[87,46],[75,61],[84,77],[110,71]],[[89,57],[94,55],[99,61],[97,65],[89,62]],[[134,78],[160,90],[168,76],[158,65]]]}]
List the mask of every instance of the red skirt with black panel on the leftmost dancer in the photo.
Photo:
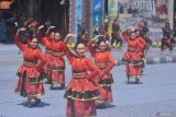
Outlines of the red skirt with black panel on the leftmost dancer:
[{"label": "red skirt with black panel on the leftmost dancer", "polygon": [[18,70],[18,84],[15,92],[21,96],[37,96],[44,94],[43,79],[44,77],[36,69],[36,66],[21,66]]}]

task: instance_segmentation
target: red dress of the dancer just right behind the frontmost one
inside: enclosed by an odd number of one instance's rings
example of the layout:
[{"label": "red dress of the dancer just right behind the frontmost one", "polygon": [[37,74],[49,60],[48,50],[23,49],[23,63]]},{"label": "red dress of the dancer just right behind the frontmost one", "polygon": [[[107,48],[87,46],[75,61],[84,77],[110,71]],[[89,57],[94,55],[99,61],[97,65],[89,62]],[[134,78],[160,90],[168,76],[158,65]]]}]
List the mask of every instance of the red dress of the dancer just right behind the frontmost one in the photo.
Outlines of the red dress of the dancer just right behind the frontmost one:
[{"label": "red dress of the dancer just right behind the frontmost one", "polygon": [[113,59],[110,51],[98,51],[92,48],[94,43],[94,40],[90,40],[88,44],[88,48],[90,50],[90,54],[95,58],[95,63],[101,70],[101,72],[103,72],[101,75],[99,75],[98,80],[98,84],[100,85],[100,98],[98,102],[112,103],[111,85],[113,83],[113,78],[110,71],[116,66],[116,60]]}]

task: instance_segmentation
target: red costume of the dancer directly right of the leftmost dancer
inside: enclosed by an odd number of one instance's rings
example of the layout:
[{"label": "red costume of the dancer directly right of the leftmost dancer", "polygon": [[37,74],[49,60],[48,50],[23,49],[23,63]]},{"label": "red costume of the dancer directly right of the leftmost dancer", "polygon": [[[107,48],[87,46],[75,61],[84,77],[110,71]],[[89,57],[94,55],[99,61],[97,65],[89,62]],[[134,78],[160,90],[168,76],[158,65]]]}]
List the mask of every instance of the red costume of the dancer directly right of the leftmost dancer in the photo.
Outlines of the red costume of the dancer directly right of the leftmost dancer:
[{"label": "red costume of the dancer directly right of the leftmost dancer", "polygon": [[48,61],[52,69],[52,84],[64,84],[65,83],[65,61],[63,56],[65,44],[62,40],[50,42],[47,37],[42,38],[43,44],[46,48],[52,49]]}]

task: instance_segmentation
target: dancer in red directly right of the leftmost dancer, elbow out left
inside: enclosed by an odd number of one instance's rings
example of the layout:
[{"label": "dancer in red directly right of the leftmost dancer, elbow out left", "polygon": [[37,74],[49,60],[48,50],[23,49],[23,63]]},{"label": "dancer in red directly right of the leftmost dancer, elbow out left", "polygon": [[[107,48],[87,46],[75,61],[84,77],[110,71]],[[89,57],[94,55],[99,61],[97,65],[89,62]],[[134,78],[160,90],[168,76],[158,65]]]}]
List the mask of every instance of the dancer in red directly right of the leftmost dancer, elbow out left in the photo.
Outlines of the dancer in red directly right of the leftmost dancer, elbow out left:
[{"label": "dancer in red directly right of the leftmost dancer, elbow out left", "polygon": [[[48,58],[50,69],[51,69],[51,90],[62,90],[65,87],[65,60],[64,60],[64,47],[65,44],[62,40],[62,35],[58,32],[54,33],[54,38],[52,42],[47,37],[41,40],[46,48],[51,48],[51,56]],[[55,85],[59,84],[59,87]]]}]

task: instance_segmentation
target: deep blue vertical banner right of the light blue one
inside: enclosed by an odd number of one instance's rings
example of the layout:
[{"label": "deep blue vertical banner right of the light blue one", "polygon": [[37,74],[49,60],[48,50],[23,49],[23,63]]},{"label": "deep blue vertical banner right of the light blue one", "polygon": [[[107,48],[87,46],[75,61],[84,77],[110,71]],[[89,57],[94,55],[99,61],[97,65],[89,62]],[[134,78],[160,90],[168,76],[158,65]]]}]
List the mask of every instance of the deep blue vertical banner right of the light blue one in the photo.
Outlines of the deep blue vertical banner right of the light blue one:
[{"label": "deep blue vertical banner right of the light blue one", "polygon": [[103,23],[103,0],[92,0],[92,31],[97,35]]}]

